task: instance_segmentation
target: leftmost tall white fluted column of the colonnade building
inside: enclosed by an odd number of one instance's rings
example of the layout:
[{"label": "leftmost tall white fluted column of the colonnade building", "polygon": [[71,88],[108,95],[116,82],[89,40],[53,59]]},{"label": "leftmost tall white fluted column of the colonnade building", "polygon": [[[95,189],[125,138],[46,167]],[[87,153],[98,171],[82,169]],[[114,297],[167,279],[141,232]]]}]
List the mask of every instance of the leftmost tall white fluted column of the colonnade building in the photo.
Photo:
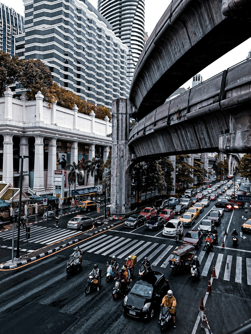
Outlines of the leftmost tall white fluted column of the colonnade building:
[{"label": "leftmost tall white fluted column of the colonnade building", "polygon": [[13,135],[3,133],[3,181],[13,186]]}]

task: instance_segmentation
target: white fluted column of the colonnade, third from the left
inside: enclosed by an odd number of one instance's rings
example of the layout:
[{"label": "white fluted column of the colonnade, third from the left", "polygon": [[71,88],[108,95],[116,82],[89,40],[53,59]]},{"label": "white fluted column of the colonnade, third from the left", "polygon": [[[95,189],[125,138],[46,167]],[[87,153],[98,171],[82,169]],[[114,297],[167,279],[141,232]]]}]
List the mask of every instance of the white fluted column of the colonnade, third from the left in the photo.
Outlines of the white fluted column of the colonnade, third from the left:
[{"label": "white fluted column of the colonnade, third from the left", "polygon": [[44,188],[44,137],[35,137],[35,163],[33,191],[43,192]]}]

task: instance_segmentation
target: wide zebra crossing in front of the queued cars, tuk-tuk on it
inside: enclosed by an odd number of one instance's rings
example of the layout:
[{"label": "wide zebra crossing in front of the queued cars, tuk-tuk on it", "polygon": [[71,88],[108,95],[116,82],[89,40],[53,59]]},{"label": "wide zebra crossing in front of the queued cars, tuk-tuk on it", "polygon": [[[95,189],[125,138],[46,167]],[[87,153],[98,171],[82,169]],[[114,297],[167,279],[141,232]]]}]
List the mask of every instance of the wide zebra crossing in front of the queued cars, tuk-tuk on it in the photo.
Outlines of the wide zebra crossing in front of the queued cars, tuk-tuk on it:
[{"label": "wide zebra crossing in front of the queued cars, tuk-tuk on it", "polygon": [[[168,268],[170,254],[176,245],[101,234],[88,239],[79,247],[87,253],[102,255],[106,259],[115,255],[116,259],[127,260],[129,255],[136,255],[140,262],[147,256],[155,269]],[[197,255],[201,276],[211,275],[215,265],[217,279],[251,285],[251,258],[222,253],[208,254],[205,251],[199,251]]]}]

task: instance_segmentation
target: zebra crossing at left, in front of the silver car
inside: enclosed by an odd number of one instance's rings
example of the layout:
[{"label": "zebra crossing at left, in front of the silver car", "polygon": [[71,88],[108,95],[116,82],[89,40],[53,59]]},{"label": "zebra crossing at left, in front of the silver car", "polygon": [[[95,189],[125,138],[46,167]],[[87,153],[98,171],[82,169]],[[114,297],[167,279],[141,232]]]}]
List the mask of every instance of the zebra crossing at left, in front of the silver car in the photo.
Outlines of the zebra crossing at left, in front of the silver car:
[{"label": "zebra crossing at left, in front of the silver car", "polygon": [[[20,241],[26,241],[25,229],[20,229]],[[40,243],[50,245],[51,243],[67,239],[73,235],[81,233],[76,230],[69,230],[64,228],[46,227],[34,225],[30,229],[30,238],[28,242]],[[17,238],[17,229],[14,231],[14,238]],[[0,232],[0,239],[11,240],[12,230]]]}]

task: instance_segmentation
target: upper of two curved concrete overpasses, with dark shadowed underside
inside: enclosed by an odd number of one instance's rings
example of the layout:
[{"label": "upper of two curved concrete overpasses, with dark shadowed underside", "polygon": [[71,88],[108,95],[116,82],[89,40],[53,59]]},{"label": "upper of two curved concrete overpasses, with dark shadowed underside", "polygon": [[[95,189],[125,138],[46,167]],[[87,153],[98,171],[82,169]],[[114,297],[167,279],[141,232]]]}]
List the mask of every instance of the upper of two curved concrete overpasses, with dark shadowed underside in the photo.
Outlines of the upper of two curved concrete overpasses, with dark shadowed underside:
[{"label": "upper of two curved concrete overpasses, with dark shadowed underside", "polygon": [[129,96],[134,117],[161,106],[195,73],[249,38],[250,12],[246,0],[173,0],[135,68]]}]

